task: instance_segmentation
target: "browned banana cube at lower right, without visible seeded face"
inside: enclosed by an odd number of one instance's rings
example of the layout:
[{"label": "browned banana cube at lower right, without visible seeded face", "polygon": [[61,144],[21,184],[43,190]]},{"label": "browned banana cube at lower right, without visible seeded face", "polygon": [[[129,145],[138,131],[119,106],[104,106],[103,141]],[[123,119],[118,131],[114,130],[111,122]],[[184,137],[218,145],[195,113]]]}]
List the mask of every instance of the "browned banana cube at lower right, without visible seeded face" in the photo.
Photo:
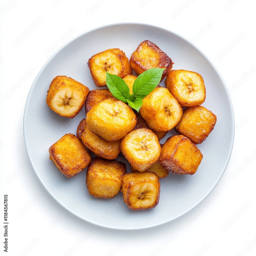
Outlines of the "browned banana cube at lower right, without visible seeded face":
[{"label": "browned banana cube at lower right, without visible seeded face", "polygon": [[202,153],[189,138],[174,135],[164,143],[158,162],[169,172],[193,175],[202,158]]}]

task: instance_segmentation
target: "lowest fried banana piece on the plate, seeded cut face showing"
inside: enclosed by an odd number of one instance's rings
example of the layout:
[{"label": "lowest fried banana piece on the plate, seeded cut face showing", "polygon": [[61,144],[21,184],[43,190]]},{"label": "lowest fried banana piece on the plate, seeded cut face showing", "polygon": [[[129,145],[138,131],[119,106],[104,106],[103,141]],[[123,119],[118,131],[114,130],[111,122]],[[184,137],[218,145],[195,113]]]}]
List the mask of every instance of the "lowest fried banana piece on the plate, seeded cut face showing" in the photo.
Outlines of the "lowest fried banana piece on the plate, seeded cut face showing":
[{"label": "lowest fried banana piece on the plate, seeded cut face showing", "polygon": [[152,172],[126,173],[123,176],[121,191],[124,202],[130,209],[149,209],[158,204],[160,182]]}]

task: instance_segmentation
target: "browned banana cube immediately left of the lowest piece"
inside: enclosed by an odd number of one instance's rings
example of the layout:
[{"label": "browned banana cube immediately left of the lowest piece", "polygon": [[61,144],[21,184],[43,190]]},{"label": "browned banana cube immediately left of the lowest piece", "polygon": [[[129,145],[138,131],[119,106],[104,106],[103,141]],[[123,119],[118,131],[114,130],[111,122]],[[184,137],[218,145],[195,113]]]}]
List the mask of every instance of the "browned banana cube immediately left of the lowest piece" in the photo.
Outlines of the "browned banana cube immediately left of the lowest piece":
[{"label": "browned banana cube immediately left of the lowest piece", "polygon": [[121,189],[122,177],[125,173],[126,166],[124,163],[94,157],[87,169],[87,189],[94,197],[115,197]]}]

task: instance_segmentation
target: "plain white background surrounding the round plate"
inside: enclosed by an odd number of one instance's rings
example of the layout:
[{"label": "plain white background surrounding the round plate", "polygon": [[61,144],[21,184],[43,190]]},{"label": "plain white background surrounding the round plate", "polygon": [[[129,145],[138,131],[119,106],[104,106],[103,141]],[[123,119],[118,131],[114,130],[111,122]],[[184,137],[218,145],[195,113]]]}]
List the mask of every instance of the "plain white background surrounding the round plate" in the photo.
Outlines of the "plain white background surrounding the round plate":
[{"label": "plain white background surrounding the round plate", "polygon": [[[11,2],[1,1],[0,6],[1,196],[9,197],[9,255],[255,255],[255,1]],[[28,29],[37,21],[32,30]],[[42,185],[27,163],[23,131],[17,130],[29,89],[49,58],[47,52],[70,28],[75,31],[67,40],[98,26],[122,22],[173,30],[194,40],[216,65],[231,92],[235,116],[228,167],[213,193],[196,207],[202,209],[199,214],[194,209],[160,227],[121,231],[94,226],[68,212],[52,226],[64,209],[50,195],[40,193]],[[27,36],[14,44],[26,30]],[[5,97],[17,82],[20,84],[15,92]],[[8,180],[15,173],[19,174]],[[31,200],[34,204],[25,214],[19,214]],[[3,206],[1,209],[3,212]],[[2,255],[2,227],[0,236]]]}]

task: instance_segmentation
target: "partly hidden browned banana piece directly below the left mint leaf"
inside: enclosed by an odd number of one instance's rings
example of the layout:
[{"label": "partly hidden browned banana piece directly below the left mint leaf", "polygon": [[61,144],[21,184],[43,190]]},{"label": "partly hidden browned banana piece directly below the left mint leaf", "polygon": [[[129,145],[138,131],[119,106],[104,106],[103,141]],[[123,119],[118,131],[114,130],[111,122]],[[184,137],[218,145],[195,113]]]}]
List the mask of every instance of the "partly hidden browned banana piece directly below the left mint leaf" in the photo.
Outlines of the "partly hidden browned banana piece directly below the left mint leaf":
[{"label": "partly hidden browned banana piece directly below the left mint leaf", "polygon": [[99,102],[112,98],[113,94],[109,89],[96,89],[89,91],[85,101],[85,112],[88,113],[91,108]]}]

